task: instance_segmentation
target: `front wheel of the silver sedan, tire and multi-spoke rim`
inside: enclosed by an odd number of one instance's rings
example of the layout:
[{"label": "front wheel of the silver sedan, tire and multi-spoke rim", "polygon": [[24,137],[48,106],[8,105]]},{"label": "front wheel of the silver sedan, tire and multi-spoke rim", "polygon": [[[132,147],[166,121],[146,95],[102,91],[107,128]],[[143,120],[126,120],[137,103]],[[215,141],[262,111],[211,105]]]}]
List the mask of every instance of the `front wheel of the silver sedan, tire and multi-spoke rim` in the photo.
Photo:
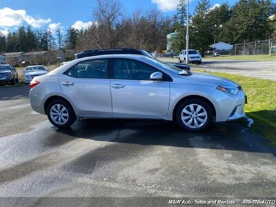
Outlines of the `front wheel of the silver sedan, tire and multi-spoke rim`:
[{"label": "front wheel of the silver sedan, tire and multi-spoke rim", "polygon": [[[193,106],[193,110],[190,106]],[[199,110],[197,111],[198,107]],[[203,99],[187,99],[177,107],[175,119],[181,128],[198,132],[206,130],[210,126],[213,119],[213,110]]]}]

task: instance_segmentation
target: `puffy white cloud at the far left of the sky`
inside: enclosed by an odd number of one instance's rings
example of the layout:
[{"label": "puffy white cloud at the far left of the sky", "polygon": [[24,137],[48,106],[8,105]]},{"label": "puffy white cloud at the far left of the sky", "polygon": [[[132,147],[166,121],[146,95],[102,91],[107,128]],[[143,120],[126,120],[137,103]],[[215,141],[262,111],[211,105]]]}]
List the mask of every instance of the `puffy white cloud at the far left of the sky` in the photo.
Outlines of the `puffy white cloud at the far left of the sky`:
[{"label": "puffy white cloud at the far left of the sky", "polygon": [[23,22],[34,28],[40,28],[43,24],[50,23],[51,19],[34,19],[27,14],[26,10],[13,10],[5,7],[0,9],[0,27],[20,26]]}]

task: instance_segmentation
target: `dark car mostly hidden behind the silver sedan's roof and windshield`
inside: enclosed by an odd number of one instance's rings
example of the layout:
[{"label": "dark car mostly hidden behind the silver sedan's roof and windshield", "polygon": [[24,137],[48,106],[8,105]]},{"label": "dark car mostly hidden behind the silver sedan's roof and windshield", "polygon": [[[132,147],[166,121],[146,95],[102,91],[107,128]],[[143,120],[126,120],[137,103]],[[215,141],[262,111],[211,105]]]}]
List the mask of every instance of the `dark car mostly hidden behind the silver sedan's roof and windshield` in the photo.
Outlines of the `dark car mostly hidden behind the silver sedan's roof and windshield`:
[{"label": "dark car mostly hidden behind the silver sedan's roof and windshield", "polygon": [[[110,49],[100,49],[100,50],[85,50],[75,54],[75,57],[79,59],[83,57],[91,57],[96,55],[112,55],[112,54],[145,55],[147,57],[156,59],[155,56],[146,52],[146,50],[137,50],[133,48],[110,48]],[[153,54],[155,53],[153,52]],[[190,70],[190,66],[186,64],[180,64],[180,63],[168,63],[168,64],[170,64],[171,66],[180,68],[181,70]]]}]

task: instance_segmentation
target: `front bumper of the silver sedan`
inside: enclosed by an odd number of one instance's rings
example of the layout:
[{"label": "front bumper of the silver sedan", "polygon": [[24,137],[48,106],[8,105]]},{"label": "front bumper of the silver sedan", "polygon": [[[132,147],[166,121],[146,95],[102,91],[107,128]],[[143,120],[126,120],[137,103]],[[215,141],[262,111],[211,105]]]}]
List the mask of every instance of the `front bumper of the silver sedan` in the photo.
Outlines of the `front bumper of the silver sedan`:
[{"label": "front bumper of the silver sedan", "polygon": [[215,101],[216,121],[231,121],[245,116],[246,96],[242,89],[239,90],[237,95],[216,89],[209,96],[209,99],[212,102]]}]

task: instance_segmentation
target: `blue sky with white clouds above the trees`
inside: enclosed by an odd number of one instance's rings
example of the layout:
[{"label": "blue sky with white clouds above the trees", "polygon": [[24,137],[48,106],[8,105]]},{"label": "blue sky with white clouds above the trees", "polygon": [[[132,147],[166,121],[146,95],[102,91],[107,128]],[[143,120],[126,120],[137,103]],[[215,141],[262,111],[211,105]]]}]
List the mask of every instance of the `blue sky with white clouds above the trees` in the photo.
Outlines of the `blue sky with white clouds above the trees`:
[{"label": "blue sky with white clouds above the trees", "polygon": [[[126,14],[141,9],[157,8],[164,15],[175,14],[178,0],[121,0]],[[198,0],[190,0],[190,12],[193,13]],[[211,7],[216,3],[235,0],[210,0]],[[14,30],[21,23],[30,24],[33,28],[50,27],[55,30],[57,26],[69,28],[85,28],[92,23],[92,8],[95,0],[0,0],[0,32]]]}]

